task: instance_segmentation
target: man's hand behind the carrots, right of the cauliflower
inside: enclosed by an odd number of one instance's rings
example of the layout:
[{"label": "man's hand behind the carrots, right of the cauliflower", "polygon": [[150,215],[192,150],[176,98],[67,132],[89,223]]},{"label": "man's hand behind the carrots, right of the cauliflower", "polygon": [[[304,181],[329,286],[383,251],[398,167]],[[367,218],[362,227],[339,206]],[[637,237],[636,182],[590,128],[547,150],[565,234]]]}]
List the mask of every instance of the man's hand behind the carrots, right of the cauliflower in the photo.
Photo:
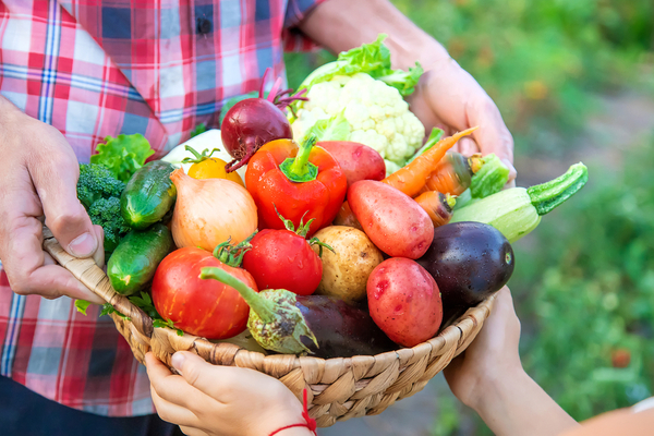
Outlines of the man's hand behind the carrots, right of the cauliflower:
[{"label": "man's hand behind the carrots, right of the cauliflower", "polygon": [[452,134],[479,125],[472,137],[461,138],[455,148],[465,156],[494,153],[509,168],[509,181],[514,181],[513,138],[495,102],[453,59],[443,57],[434,62],[423,65],[426,71],[408,98],[413,113],[427,133],[433,126]]}]

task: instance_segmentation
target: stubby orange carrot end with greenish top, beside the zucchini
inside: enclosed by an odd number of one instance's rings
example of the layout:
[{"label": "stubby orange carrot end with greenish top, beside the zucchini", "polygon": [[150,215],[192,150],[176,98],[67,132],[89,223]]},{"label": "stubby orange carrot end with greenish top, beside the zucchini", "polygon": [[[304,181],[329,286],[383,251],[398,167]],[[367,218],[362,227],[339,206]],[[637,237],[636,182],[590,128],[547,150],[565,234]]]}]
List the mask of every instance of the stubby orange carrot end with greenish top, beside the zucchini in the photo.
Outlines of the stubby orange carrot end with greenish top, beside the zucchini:
[{"label": "stubby orange carrot end with greenish top, beside the zucchini", "polygon": [[438,191],[444,194],[461,195],[470,187],[472,175],[482,168],[481,155],[465,157],[460,153],[448,153],[432,171],[423,190]]}]

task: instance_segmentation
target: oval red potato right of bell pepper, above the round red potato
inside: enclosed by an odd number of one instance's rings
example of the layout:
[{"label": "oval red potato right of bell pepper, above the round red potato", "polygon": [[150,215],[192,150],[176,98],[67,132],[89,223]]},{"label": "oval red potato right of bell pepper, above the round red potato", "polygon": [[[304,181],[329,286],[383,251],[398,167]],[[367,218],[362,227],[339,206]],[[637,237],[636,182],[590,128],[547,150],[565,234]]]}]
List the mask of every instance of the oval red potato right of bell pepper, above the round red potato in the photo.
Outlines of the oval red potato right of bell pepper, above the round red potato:
[{"label": "oval red potato right of bell pepper, above the round red potato", "polygon": [[391,257],[420,258],[434,240],[434,225],[427,213],[386,183],[354,183],[348,190],[348,203],[365,234]]}]

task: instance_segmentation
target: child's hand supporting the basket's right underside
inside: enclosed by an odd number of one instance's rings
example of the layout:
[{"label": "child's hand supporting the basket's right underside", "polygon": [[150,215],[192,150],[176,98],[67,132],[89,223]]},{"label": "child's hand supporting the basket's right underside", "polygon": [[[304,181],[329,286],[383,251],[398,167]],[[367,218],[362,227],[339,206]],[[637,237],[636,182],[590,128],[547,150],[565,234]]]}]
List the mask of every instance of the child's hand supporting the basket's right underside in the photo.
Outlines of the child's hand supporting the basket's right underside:
[{"label": "child's hand supporting the basket's right underside", "polygon": [[444,371],[452,393],[476,409],[488,386],[522,373],[519,341],[520,320],[511,292],[504,287],[497,292],[495,306],[477,337]]}]

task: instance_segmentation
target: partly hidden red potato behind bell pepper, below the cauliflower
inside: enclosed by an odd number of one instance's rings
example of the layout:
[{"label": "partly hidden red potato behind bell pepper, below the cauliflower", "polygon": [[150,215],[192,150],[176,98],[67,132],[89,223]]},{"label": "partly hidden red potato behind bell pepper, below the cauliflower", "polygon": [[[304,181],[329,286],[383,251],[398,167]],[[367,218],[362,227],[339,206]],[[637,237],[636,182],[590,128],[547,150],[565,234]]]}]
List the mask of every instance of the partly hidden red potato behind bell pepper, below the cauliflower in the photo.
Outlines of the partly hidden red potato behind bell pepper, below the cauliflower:
[{"label": "partly hidden red potato behind bell pepper, below the cauliflower", "polygon": [[319,141],[341,167],[348,178],[348,186],[360,180],[382,180],[386,177],[386,164],[375,149],[351,141]]}]

